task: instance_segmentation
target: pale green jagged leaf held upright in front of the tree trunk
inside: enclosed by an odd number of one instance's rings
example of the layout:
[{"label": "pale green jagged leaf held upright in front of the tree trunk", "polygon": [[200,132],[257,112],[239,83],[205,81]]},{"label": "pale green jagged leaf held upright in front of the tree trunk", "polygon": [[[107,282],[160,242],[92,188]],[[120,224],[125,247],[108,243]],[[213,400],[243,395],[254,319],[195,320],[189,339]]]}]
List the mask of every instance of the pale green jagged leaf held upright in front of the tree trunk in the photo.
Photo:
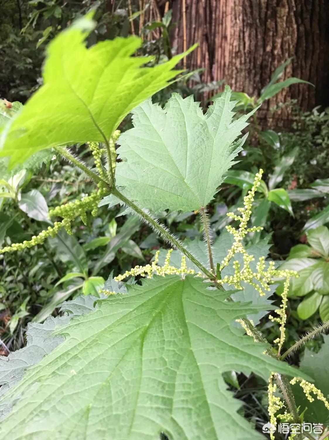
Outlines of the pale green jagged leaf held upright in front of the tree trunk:
[{"label": "pale green jagged leaf held upright in front of the tree trunk", "polygon": [[[123,193],[153,212],[206,206],[246,139],[237,137],[253,113],[232,120],[226,86],[204,115],[193,96],[173,94],[162,109],[146,101],[133,111],[134,128],[119,138],[116,180]],[[253,110],[255,111],[255,110]]]}]

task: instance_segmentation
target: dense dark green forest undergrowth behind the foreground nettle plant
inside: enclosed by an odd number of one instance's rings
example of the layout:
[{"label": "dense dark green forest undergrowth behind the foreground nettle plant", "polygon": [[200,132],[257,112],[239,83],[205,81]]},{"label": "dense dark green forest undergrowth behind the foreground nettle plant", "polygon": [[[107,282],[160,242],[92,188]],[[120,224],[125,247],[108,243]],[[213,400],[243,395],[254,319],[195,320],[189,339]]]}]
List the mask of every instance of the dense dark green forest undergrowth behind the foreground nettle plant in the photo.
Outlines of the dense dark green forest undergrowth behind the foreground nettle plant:
[{"label": "dense dark green forest undergrowth behind the foreground nettle plant", "polygon": [[[42,84],[41,66],[47,43],[91,6],[98,6],[97,26],[88,38],[88,46],[116,36],[127,37],[134,23],[134,32],[143,37],[137,53],[153,56],[147,59],[149,66],[161,66],[175,55],[176,49],[170,44],[170,29],[174,26],[170,11],[160,22],[147,23],[142,22],[142,13],[134,2],[131,11],[126,2],[113,4],[114,7],[108,7],[108,2],[91,0],[30,1],[21,2],[18,13],[17,2],[1,2],[4,17],[0,30],[1,97],[25,103]],[[289,60],[286,65],[288,63]],[[243,91],[232,94],[232,99],[238,101],[235,104],[238,117],[244,117],[271,93],[288,85],[280,83],[284,67],[274,71],[261,96],[249,97]],[[84,68],[88,70],[88,66]],[[188,72],[157,92],[153,102],[164,104],[172,92],[183,98],[192,94],[202,100],[206,110],[209,103],[204,93],[211,93],[222,82],[203,84],[202,72]],[[310,86],[305,84],[304,87]],[[65,102],[62,106],[65,107]],[[286,260],[283,267],[300,273],[289,290],[286,340],[289,347],[300,334],[329,319],[329,233],[325,226],[329,223],[329,111],[316,108],[302,113],[293,102],[282,103],[282,106],[289,107],[294,114],[291,127],[285,132],[262,129],[255,114],[249,127],[250,135],[239,152],[239,162],[226,173],[209,211],[215,240],[219,236],[224,241],[223,230],[230,221],[226,213],[237,213],[255,172],[260,167],[265,170],[265,184],[257,192],[252,219],[253,224],[263,226],[264,231],[251,235],[247,244],[257,246],[260,239],[265,239],[269,243],[265,251],[278,265]],[[272,109],[276,110],[278,108]],[[1,103],[1,115],[5,116],[6,112],[5,103]],[[120,129],[125,131],[130,127],[130,116],[127,116]],[[83,143],[76,146],[75,154],[93,166],[93,158]],[[48,207],[82,198],[90,194],[93,187],[85,175],[63,161],[54,150],[40,151],[11,171],[7,165],[7,158],[1,158],[0,246],[37,235],[48,226]],[[160,211],[157,216],[177,237],[192,243],[202,239],[199,214],[192,205],[184,213],[176,212],[175,207],[170,211]],[[72,236],[62,231],[43,246],[0,256],[1,354],[7,356],[26,344],[28,322],[39,323],[51,314],[58,315],[63,301],[81,293],[99,297],[98,292],[111,272],[118,275],[136,264],[149,262],[157,249],[167,246],[116,200],[103,203],[98,216],[88,218],[87,226],[80,221],[73,222],[72,231]],[[280,289],[279,284],[270,298],[275,304],[279,304]],[[260,328],[269,341],[279,335],[278,325],[262,318]],[[297,365],[302,359],[301,365],[305,365],[308,372],[310,353],[325,356],[328,350],[322,348],[327,345],[328,342],[323,344],[322,336],[317,336],[307,341],[304,356],[303,352],[295,353],[289,362]],[[328,361],[327,357],[324,359],[323,362]],[[232,371],[225,380],[243,403],[240,411],[249,421],[258,428],[268,421],[266,386],[262,379]]]}]

